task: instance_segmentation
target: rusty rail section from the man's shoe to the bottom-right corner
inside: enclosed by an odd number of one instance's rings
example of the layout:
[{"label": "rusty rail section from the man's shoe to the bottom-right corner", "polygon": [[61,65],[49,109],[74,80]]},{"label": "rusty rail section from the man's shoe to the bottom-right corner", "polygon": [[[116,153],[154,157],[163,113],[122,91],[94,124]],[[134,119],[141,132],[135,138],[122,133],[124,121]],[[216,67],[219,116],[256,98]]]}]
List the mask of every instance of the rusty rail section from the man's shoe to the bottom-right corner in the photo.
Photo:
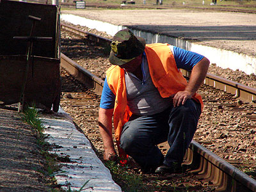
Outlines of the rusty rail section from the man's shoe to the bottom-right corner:
[{"label": "rusty rail section from the man's shoe to the bottom-right corner", "polygon": [[189,145],[184,164],[188,164],[190,172],[197,177],[211,180],[212,185],[218,187],[216,191],[256,191],[256,180],[194,140]]}]

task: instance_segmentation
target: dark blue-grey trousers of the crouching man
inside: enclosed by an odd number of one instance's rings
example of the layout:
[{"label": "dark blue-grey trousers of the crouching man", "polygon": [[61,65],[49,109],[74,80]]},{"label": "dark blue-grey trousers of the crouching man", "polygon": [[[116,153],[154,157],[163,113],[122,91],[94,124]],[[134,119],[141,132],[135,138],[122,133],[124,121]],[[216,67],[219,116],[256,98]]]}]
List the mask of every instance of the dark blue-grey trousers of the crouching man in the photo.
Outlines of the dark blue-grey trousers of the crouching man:
[{"label": "dark blue-grey trousers of the crouching man", "polygon": [[[170,107],[156,115],[132,115],[122,131],[120,147],[143,170],[161,164],[182,163],[186,149],[195,134],[201,106],[192,99],[182,106]],[[164,157],[157,147],[168,141],[170,149]]]}]

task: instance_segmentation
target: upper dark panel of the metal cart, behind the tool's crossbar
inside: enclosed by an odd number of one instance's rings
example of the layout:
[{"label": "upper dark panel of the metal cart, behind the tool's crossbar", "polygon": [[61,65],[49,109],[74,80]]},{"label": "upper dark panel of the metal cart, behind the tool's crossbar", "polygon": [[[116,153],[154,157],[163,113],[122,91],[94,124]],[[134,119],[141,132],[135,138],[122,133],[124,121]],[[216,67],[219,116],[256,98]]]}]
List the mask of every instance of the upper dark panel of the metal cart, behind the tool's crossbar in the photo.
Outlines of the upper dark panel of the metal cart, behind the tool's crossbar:
[{"label": "upper dark panel of the metal cart, behind the tool's crossbar", "polygon": [[0,1],[0,55],[26,54],[27,42],[13,40],[13,36],[29,36],[32,24],[29,15],[41,19],[36,22],[35,36],[52,37],[51,42],[36,42],[32,54],[60,58],[60,7],[6,0]]}]

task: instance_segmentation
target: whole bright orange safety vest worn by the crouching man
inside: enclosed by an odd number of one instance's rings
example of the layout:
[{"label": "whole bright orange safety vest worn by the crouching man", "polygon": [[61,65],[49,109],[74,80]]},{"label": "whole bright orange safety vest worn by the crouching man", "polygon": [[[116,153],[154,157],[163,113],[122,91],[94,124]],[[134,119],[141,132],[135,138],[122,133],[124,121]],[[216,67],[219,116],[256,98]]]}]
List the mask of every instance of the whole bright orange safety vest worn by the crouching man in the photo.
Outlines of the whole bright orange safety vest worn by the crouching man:
[{"label": "whole bright orange safety vest worn by the crouching man", "polygon": [[[177,68],[168,45],[147,44],[145,47],[152,82],[163,98],[185,90],[188,84]],[[124,151],[119,147],[120,137],[123,125],[128,122],[132,113],[127,106],[124,69],[118,67],[118,65],[113,65],[107,70],[106,76],[110,90],[116,95],[113,123],[118,151],[121,157],[125,157]],[[193,95],[193,99],[200,102],[201,108],[204,108],[202,97],[198,93]]]}]

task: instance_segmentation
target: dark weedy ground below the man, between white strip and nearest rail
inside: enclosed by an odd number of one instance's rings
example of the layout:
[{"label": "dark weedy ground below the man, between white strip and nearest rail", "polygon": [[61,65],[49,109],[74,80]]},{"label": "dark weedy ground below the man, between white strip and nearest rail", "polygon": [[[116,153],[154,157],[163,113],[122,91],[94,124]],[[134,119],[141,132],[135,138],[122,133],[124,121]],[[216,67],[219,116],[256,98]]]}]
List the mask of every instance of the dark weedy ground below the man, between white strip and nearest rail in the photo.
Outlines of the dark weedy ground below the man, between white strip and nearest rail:
[{"label": "dark weedy ground below the man, between white strip and nearest rail", "polygon": [[115,161],[105,161],[113,180],[124,192],[195,192],[214,191],[211,186],[203,186],[199,181],[191,183],[193,176],[189,173],[173,175],[143,174],[136,165],[124,166]]}]

